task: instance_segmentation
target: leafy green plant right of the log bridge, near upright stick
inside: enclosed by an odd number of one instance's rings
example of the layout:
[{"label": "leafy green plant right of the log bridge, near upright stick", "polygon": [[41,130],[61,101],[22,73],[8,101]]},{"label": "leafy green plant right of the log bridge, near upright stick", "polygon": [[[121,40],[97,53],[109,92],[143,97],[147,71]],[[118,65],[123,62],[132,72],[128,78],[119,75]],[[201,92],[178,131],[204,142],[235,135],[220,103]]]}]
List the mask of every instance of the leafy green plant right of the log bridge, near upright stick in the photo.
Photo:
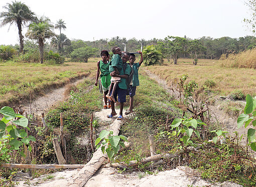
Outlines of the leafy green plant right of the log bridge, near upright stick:
[{"label": "leafy green plant right of the log bridge, near upright stick", "polygon": [[175,118],[171,124],[171,127],[172,129],[176,128],[174,134],[176,134],[177,136],[179,136],[180,133],[183,134],[181,140],[184,142],[185,145],[188,145],[193,132],[200,138],[198,127],[202,127],[202,125],[206,124],[200,119],[196,120],[192,118]]}]

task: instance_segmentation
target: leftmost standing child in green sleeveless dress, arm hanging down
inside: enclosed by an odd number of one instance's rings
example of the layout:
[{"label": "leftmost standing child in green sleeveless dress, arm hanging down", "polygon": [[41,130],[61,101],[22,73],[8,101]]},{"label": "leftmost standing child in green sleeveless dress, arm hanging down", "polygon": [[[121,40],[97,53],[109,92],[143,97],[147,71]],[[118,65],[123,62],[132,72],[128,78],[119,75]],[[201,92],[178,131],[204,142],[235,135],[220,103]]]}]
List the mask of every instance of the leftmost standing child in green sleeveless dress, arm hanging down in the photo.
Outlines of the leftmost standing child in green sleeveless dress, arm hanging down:
[{"label": "leftmost standing child in green sleeveless dress, arm hanging down", "polygon": [[102,85],[102,90],[104,92],[104,109],[110,108],[110,102],[108,102],[107,106],[107,93],[109,90],[110,86],[110,72],[109,72],[109,63],[107,61],[107,57],[109,56],[108,51],[103,50],[100,52],[100,56],[102,60],[97,62],[97,74],[96,74],[96,82],[94,83],[95,86],[98,85],[98,78],[99,78],[99,71],[101,72],[100,74],[100,79],[101,79],[101,85]]}]

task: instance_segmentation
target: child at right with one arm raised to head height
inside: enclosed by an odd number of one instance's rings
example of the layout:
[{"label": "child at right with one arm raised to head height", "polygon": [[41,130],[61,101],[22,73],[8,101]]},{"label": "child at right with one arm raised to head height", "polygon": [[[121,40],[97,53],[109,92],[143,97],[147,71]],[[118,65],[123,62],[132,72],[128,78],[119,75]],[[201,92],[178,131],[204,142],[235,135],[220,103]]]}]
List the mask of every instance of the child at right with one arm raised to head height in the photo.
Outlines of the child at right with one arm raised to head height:
[{"label": "child at right with one arm raised to head height", "polygon": [[134,63],[136,58],[134,54],[130,55],[130,66],[132,67],[134,74],[133,74],[133,80],[131,81],[131,83],[129,83],[129,95],[130,95],[130,106],[129,108],[124,112],[126,115],[130,114],[131,112],[133,112],[133,108],[134,108],[134,96],[135,96],[135,92],[136,92],[136,87],[140,85],[139,83],[139,73],[138,70],[141,66],[141,64],[143,63],[143,55],[141,51],[138,51],[137,53],[141,54],[141,60],[138,63]]}]

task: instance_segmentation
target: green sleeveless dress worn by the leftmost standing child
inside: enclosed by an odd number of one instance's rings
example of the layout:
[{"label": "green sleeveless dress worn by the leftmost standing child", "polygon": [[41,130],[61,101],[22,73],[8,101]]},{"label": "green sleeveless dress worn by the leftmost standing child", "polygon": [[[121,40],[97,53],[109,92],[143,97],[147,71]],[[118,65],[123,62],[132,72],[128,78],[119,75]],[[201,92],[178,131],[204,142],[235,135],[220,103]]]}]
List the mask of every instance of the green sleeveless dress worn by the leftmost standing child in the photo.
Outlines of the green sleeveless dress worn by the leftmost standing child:
[{"label": "green sleeveless dress worn by the leftmost standing child", "polygon": [[102,60],[99,61],[99,69],[100,69],[100,79],[101,79],[101,85],[102,90],[105,92],[109,90],[109,86],[111,84],[110,79],[110,73],[109,73],[109,63],[104,64]]}]

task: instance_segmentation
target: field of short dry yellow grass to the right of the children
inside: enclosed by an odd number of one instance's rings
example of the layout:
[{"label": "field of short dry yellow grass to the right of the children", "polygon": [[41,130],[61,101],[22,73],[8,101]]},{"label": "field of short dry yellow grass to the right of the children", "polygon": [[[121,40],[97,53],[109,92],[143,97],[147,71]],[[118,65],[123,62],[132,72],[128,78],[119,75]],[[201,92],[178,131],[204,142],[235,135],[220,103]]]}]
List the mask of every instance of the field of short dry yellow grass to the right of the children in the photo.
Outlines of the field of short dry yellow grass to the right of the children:
[{"label": "field of short dry yellow grass to the right of the children", "polygon": [[207,89],[221,95],[229,95],[235,91],[256,95],[256,70],[222,67],[218,60],[199,59],[198,64],[194,66],[191,59],[181,58],[178,65],[166,62],[162,66],[145,68],[167,80],[169,85],[174,84],[175,78],[187,74],[188,80],[195,80],[199,86],[209,82],[215,83]]}]

